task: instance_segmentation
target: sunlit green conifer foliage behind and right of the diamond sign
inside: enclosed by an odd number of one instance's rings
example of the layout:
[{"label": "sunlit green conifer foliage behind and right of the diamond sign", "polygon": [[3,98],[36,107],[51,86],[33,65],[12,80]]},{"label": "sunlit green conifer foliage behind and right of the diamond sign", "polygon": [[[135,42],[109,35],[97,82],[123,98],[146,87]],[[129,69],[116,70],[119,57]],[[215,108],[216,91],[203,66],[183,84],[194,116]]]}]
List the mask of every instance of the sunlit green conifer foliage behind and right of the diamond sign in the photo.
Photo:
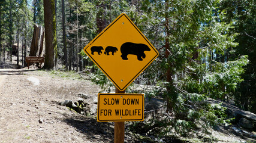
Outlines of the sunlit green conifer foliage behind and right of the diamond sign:
[{"label": "sunlit green conifer foliage behind and right of the diamond sign", "polygon": [[[164,98],[167,112],[161,122],[163,135],[172,129],[188,135],[194,129],[206,131],[229,123],[225,108],[208,100],[234,98],[243,81],[248,56],[230,60],[228,49],[238,45],[233,22],[225,21],[219,1],[139,1],[125,13],[158,49],[159,57],[135,80],[127,92],[144,92]],[[114,6],[113,6],[114,7]],[[107,18],[107,17],[106,17]],[[89,60],[89,58],[86,58]],[[95,66],[92,81],[109,92],[113,84]],[[169,80],[167,80],[169,74]],[[138,85],[140,84],[140,85]],[[141,86],[143,85],[143,86]],[[136,88],[144,87],[144,91]],[[131,88],[132,87],[132,88]]]}]

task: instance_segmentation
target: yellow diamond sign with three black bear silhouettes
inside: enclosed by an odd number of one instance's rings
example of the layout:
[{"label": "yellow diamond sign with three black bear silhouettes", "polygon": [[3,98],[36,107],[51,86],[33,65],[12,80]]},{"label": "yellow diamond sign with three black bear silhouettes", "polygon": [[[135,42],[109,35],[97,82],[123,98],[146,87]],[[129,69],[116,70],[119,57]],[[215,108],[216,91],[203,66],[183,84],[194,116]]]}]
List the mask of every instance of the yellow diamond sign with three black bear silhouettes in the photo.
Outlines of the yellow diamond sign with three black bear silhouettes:
[{"label": "yellow diamond sign with three black bear silhouettes", "polygon": [[158,51],[126,14],[119,15],[83,50],[120,91],[158,57]]}]

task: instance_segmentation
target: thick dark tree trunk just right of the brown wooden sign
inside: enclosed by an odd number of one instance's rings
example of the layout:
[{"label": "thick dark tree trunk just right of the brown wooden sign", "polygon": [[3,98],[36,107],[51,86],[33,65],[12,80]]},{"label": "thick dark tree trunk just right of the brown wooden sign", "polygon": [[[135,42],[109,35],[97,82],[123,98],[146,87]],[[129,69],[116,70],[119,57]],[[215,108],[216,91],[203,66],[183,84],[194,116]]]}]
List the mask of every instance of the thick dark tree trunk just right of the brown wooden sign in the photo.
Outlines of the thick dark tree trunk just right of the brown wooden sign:
[{"label": "thick dark tree trunk just right of the brown wooden sign", "polygon": [[56,15],[54,0],[44,0],[44,26],[46,36],[46,57],[44,69],[54,67],[54,49],[56,48]]}]

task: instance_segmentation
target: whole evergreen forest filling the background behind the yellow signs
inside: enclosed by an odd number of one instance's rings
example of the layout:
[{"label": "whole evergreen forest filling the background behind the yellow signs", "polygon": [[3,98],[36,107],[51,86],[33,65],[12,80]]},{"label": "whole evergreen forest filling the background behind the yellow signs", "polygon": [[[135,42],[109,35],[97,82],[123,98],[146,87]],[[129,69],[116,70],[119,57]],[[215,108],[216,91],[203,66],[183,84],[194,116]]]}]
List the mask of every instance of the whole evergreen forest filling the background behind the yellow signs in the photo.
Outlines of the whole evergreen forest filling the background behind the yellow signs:
[{"label": "whole evergreen forest filling the background behind the yellow signs", "polygon": [[37,24],[52,32],[45,33],[44,69],[83,72],[110,92],[114,85],[82,49],[125,13],[159,52],[127,92],[164,99],[165,114],[152,120],[171,127],[162,133],[174,128],[186,135],[230,122],[225,108],[210,104],[209,98],[256,113],[255,10],[253,0],[4,0],[0,67],[12,61],[13,45],[22,50],[17,64],[26,65]]}]

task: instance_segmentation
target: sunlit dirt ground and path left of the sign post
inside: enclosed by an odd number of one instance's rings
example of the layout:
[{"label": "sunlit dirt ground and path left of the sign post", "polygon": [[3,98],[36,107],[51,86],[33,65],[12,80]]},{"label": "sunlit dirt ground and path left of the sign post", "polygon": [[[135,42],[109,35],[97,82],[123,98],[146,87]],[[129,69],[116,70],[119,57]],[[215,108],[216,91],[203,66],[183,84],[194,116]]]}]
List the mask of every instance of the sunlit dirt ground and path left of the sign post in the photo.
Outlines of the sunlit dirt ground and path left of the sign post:
[{"label": "sunlit dirt ground and path left of the sign post", "polygon": [[0,70],[0,142],[112,142],[113,123],[99,123],[95,116],[58,105],[76,100],[79,93],[97,96],[100,88],[45,73]]}]

